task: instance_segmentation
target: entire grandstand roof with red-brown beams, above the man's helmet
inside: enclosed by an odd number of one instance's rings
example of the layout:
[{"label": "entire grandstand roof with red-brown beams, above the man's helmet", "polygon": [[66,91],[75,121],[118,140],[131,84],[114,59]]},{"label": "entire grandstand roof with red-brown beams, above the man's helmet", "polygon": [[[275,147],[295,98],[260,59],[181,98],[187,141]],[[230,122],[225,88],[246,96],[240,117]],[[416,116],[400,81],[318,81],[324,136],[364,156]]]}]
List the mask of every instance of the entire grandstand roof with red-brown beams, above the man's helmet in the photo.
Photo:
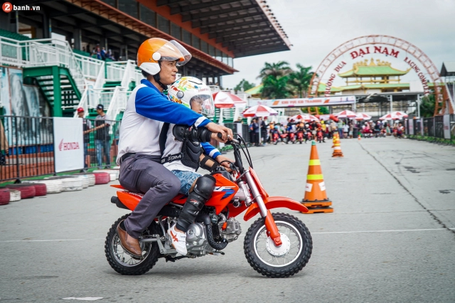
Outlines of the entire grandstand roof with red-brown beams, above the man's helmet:
[{"label": "entire grandstand roof with red-brown beams, above the man's helmet", "polygon": [[126,47],[131,59],[146,38],[176,39],[196,59],[188,68],[199,68],[204,75],[228,75],[237,71],[232,58],[289,50],[286,33],[265,2],[16,0],[15,4],[41,6],[39,12],[20,11],[21,23],[52,28],[67,38],[75,37],[79,29],[84,42],[103,46],[107,41],[108,48],[119,50]]}]

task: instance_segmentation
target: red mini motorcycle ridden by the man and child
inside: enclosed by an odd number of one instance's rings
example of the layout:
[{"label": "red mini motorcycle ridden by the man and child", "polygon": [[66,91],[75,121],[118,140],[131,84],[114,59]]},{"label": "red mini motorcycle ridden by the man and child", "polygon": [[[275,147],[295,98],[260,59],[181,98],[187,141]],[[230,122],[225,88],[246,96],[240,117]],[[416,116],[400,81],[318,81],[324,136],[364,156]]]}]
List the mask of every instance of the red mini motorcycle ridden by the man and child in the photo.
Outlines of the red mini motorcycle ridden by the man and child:
[{"label": "red mini motorcycle ridden by the man and child", "polygon": [[[160,257],[166,262],[175,262],[181,258],[225,255],[223,249],[242,235],[236,217],[244,211],[244,220],[250,220],[258,213],[260,215],[248,228],[243,244],[247,262],[254,270],[267,277],[289,277],[304,268],[313,248],[308,228],[294,216],[271,213],[269,210],[289,208],[308,212],[308,208],[290,198],[269,196],[253,170],[245,140],[240,136],[238,140],[240,142],[235,139],[230,141],[235,156],[235,163],[230,163],[232,173],[225,171],[223,166],[218,166],[218,170],[211,173],[216,180],[215,191],[186,233],[188,254],[178,254],[172,248],[166,232],[176,222],[186,202],[186,196],[178,195],[161,209],[139,237],[141,257],[134,257],[124,250],[117,235],[117,225],[129,214],[115,221],[107,233],[105,253],[107,262],[116,272],[142,275],[154,267]],[[240,150],[249,164],[247,168],[242,164]],[[117,196],[111,198],[111,202],[119,208],[133,211],[143,196],[119,185],[113,187],[119,188],[119,191]]]}]

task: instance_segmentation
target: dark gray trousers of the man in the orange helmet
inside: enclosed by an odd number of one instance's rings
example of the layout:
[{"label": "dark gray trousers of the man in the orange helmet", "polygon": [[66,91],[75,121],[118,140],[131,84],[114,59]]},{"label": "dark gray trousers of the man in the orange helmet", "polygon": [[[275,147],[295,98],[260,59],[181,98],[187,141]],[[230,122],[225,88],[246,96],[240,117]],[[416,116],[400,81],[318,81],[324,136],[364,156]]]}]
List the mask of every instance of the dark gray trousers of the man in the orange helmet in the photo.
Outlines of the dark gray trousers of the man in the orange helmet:
[{"label": "dark gray trousers of the man in the orange helmet", "polygon": [[124,221],[127,233],[139,238],[156,215],[180,190],[180,180],[159,163],[161,156],[135,154],[120,164],[119,182],[144,197]]}]

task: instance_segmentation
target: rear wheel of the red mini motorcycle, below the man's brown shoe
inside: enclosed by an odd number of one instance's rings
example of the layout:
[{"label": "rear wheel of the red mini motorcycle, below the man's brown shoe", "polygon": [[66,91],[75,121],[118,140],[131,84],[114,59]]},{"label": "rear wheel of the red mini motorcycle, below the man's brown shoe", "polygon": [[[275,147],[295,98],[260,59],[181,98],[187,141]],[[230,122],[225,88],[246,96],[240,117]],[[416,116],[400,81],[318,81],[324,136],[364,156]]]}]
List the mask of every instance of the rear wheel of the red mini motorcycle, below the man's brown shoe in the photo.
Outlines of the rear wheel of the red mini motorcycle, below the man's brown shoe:
[{"label": "rear wheel of the red mini motorcycle, below the man's brown shoe", "polygon": [[[142,257],[137,258],[129,255],[129,253],[122,248],[122,245],[120,245],[120,239],[117,235],[117,225],[120,221],[128,218],[128,216],[129,214],[117,219],[107,233],[105,242],[107,262],[109,262],[112,269],[121,275],[144,275],[151,270],[151,267],[154,267],[156,261],[158,261],[160,256],[159,247],[156,243],[141,243]],[[142,233],[142,235],[154,234],[159,234],[159,228],[156,222],[152,222],[149,228]]]}]

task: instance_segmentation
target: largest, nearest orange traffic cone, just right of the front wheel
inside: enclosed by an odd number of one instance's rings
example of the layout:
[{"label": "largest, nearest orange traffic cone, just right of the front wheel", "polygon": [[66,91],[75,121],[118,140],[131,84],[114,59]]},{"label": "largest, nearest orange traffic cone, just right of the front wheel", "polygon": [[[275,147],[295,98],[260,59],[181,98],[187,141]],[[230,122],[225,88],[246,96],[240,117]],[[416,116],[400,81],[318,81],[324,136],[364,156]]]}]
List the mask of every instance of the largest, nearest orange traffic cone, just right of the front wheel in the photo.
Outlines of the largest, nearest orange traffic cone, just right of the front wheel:
[{"label": "largest, nearest orange traffic cone, just right of the front wheel", "polygon": [[309,209],[308,213],[333,213],[333,208],[328,207],[332,205],[332,202],[327,198],[326,184],[324,183],[321,161],[315,141],[311,142],[305,197],[301,203]]}]

